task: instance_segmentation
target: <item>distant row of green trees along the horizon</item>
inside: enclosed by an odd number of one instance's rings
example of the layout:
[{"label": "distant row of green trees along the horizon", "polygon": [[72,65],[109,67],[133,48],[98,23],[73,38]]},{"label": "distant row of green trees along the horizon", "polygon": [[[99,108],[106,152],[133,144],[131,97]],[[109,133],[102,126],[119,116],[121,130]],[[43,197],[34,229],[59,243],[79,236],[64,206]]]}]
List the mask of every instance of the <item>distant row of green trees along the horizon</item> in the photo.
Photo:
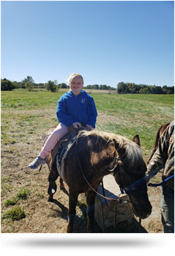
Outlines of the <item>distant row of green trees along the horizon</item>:
[{"label": "distant row of green trees along the horizon", "polygon": [[[1,91],[12,91],[13,89],[27,89],[28,91],[32,91],[34,88],[46,88],[48,91],[56,92],[59,89],[68,89],[69,86],[65,83],[59,84],[57,80],[44,83],[34,83],[33,78],[28,75],[21,82],[11,82],[6,78],[1,79]],[[125,93],[141,93],[141,94],[174,94],[174,86],[164,85],[156,86],[156,85],[147,85],[147,84],[134,84],[130,82],[119,82],[116,85],[116,88],[107,86],[106,84],[88,84],[84,86],[85,89],[96,89],[96,90],[107,90],[107,91],[115,91],[119,94]]]}]

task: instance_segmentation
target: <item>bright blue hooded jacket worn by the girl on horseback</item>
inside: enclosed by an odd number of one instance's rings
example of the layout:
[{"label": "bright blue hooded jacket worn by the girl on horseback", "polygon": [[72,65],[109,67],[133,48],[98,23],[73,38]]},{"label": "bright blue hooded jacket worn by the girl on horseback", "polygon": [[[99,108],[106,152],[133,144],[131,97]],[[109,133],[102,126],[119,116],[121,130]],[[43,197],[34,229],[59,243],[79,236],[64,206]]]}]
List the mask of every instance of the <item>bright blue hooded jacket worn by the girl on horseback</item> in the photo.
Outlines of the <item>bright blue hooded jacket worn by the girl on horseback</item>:
[{"label": "bright blue hooded jacket worn by the girl on horseback", "polygon": [[94,99],[83,90],[79,95],[74,95],[72,91],[63,94],[56,108],[59,122],[67,127],[74,122],[84,122],[95,128],[97,115]]}]

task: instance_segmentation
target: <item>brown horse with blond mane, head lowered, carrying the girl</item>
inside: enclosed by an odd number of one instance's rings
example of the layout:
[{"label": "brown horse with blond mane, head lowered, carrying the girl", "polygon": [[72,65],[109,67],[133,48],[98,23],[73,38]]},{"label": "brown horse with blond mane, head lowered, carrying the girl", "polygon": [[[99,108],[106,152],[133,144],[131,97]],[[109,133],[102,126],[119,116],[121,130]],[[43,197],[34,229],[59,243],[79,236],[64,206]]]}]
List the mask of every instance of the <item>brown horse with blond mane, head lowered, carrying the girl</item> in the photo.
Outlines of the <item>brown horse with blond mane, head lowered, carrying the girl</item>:
[{"label": "brown horse with blond mane, head lowered, carrying the girl", "polygon": [[[65,158],[64,181],[69,187],[68,233],[73,230],[77,199],[83,192],[86,193],[88,203],[87,228],[88,232],[93,232],[96,197],[94,190],[97,191],[103,176],[111,174],[116,165],[116,182],[130,196],[136,216],[145,219],[151,214],[152,206],[147,196],[147,185],[144,179],[146,165],[139,145],[138,135],[134,136],[132,141],[123,136],[95,130],[79,133],[76,143]],[[49,177],[50,199],[56,192],[55,181],[58,176],[54,161],[54,172],[50,172]]]}]

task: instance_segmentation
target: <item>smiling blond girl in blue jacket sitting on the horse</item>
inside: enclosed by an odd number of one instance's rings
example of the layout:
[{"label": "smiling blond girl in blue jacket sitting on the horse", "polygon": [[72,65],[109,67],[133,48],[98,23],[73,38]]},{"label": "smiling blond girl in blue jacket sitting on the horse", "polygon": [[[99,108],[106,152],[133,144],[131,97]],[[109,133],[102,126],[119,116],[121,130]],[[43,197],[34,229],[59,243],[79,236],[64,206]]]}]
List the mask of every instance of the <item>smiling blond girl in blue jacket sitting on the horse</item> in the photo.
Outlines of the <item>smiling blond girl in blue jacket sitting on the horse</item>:
[{"label": "smiling blond girl in blue jacket sitting on the horse", "polygon": [[28,165],[31,169],[37,169],[39,165],[46,163],[46,158],[54,149],[56,143],[68,134],[68,127],[75,128],[85,124],[88,131],[95,128],[97,111],[94,99],[83,91],[83,77],[79,73],[72,73],[68,78],[70,91],[59,99],[56,108],[56,116],[60,124],[54,129],[37,158]]}]

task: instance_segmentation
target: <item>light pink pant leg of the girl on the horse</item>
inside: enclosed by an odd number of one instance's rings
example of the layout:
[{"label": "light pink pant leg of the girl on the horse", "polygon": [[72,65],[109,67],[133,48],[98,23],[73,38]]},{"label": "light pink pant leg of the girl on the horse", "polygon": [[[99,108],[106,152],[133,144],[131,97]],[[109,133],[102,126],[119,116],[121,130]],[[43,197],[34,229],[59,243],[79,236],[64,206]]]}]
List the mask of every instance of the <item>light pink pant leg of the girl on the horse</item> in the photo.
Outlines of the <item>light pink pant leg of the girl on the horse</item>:
[{"label": "light pink pant leg of the girl on the horse", "polygon": [[41,158],[45,158],[46,156],[48,156],[50,154],[50,152],[52,151],[52,149],[54,149],[56,143],[61,138],[63,138],[63,136],[65,136],[65,134],[68,134],[68,127],[63,124],[59,124],[54,129],[54,131],[52,131],[52,134],[50,134],[50,137],[48,138],[48,140],[46,140],[46,143],[42,147],[41,152],[39,153],[39,156]]}]

